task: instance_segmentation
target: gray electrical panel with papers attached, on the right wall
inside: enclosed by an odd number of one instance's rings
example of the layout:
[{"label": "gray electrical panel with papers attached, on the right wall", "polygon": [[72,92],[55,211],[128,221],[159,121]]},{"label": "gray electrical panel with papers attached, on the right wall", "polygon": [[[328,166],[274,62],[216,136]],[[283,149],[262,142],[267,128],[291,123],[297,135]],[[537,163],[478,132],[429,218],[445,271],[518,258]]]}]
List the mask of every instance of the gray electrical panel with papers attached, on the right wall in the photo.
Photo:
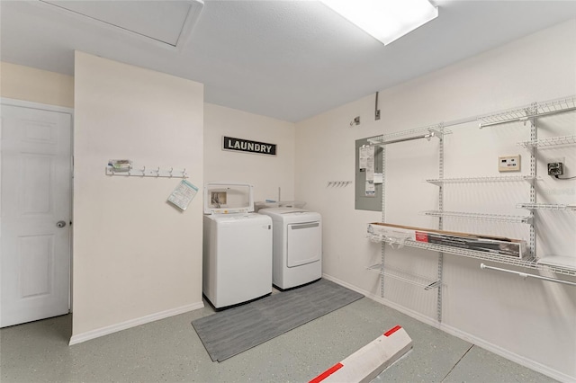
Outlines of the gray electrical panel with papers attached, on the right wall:
[{"label": "gray electrical panel with papers attached, on the right wall", "polygon": [[[355,185],[355,209],[382,211],[382,183],[366,183],[366,174],[370,177],[370,170],[365,166],[365,158],[361,164],[360,151],[362,147],[369,146],[368,138],[356,139],[356,182]],[[382,147],[374,147],[374,174],[383,174]],[[370,180],[368,180],[370,181]]]}]

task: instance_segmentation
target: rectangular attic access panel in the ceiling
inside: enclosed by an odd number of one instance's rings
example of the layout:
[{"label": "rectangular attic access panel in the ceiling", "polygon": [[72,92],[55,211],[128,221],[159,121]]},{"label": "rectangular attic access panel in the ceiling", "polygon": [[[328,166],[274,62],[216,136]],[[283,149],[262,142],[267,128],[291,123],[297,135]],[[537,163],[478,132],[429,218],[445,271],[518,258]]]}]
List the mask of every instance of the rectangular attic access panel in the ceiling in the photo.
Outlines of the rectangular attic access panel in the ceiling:
[{"label": "rectangular attic access panel in the ceiling", "polygon": [[202,0],[40,0],[40,3],[173,48],[190,34],[203,6]]}]

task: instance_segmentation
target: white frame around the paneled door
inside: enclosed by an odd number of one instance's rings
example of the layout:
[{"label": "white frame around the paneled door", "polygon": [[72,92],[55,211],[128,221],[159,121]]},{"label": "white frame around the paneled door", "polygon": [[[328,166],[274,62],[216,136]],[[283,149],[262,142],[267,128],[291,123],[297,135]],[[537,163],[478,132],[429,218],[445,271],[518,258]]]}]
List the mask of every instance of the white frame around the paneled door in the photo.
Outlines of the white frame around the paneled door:
[{"label": "white frame around the paneled door", "polygon": [[[30,109],[39,109],[40,111],[57,111],[60,113],[67,113],[70,115],[70,153],[74,157],[74,109],[67,108],[65,106],[58,106],[58,105],[49,105],[46,103],[40,102],[30,102],[24,100],[16,100],[12,98],[0,97],[0,104],[2,105],[9,105],[9,106],[18,106],[21,108],[30,108]],[[1,116],[0,116],[1,117]],[[1,121],[1,120],[0,120]],[[2,123],[0,123],[0,138],[2,137]],[[2,146],[0,146],[0,166],[2,165]],[[74,162],[72,162],[72,174],[74,177]],[[72,178],[74,180],[74,178]],[[70,183],[70,212],[71,212],[71,220],[74,222],[74,182]],[[0,177],[0,212],[2,212],[2,178]],[[0,219],[1,214],[0,214]],[[0,239],[2,238],[2,233],[0,233]],[[70,312],[72,312],[72,266],[74,256],[72,254],[72,243],[74,241],[74,227],[70,227],[70,243],[68,244],[70,249],[70,274],[68,276],[70,283],[69,283],[69,290],[68,290],[68,308]],[[2,256],[2,249],[0,248],[0,256]]]}]

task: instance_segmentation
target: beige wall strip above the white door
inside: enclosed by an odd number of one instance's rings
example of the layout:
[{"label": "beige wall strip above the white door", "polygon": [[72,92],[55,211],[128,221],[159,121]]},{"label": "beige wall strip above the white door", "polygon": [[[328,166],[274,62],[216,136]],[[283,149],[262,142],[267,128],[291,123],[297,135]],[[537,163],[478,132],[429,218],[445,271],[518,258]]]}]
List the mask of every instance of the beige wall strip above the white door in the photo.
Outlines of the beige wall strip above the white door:
[{"label": "beige wall strip above the white door", "polygon": [[74,77],[1,62],[0,95],[73,108]]}]

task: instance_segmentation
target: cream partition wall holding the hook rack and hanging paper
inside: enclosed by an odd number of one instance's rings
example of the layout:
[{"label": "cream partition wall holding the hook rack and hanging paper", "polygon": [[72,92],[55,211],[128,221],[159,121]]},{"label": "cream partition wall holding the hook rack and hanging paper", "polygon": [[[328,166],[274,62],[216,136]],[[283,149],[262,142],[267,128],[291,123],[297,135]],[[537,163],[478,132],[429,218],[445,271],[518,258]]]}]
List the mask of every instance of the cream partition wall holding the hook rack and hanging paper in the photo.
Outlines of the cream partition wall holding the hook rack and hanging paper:
[{"label": "cream partition wall holding the hook rack and hanging paper", "polygon": [[202,307],[202,197],[180,182],[107,176],[109,159],[186,168],[203,183],[203,85],[76,52],[73,337]]}]

